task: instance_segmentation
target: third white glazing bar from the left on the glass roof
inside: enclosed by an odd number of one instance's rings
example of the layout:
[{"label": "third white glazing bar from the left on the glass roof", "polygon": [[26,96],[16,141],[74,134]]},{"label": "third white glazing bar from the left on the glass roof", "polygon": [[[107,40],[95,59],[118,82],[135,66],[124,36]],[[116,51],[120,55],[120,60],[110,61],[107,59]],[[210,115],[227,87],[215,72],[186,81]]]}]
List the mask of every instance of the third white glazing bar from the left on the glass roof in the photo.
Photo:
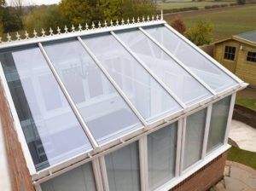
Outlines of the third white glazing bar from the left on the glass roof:
[{"label": "third white glazing bar from the left on the glass roof", "polygon": [[135,58],[135,60],[162,86],[162,88],[164,90],[166,90],[166,92],[172,96],[172,98],[177,101],[177,103],[183,107],[183,109],[186,109],[186,105],[183,103],[183,101],[181,101],[176,95],[175,93],[173,93],[172,90],[170,90],[170,88],[160,79],[158,78],[158,76],[156,76],[154,74],[154,72],[135,54],[132,52],[132,50],[126,46],[126,44],[114,33],[114,32],[110,32],[113,37],[119,41],[119,43],[129,52],[129,54]]}]

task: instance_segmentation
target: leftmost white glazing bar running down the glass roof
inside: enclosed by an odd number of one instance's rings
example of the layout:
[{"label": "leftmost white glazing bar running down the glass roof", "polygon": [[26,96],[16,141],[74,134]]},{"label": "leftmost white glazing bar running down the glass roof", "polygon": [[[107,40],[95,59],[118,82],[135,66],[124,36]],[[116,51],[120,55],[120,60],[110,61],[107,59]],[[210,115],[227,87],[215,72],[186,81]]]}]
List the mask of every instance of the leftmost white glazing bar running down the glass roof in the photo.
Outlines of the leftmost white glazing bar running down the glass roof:
[{"label": "leftmost white glazing bar running down the glass roof", "polygon": [[92,136],[92,134],[90,132],[90,129],[88,128],[87,124],[85,124],[82,115],[79,113],[79,109],[76,107],[72,97],[69,95],[65,85],[63,84],[63,82],[61,80],[61,77],[59,76],[58,72],[55,70],[54,65],[49,60],[49,56],[47,55],[46,51],[44,50],[44,47],[43,47],[42,43],[38,43],[38,46],[39,46],[39,49],[41,50],[42,54],[44,55],[44,58],[47,61],[51,72],[53,72],[53,74],[55,76],[55,79],[57,80],[58,84],[60,85],[62,92],[66,96],[70,107],[73,109],[73,113],[76,115],[77,119],[79,119],[79,123],[81,124],[81,126],[82,126],[86,136],[88,137],[92,147],[96,150],[99,149],[98,143],[96,142],[95,138]]}]

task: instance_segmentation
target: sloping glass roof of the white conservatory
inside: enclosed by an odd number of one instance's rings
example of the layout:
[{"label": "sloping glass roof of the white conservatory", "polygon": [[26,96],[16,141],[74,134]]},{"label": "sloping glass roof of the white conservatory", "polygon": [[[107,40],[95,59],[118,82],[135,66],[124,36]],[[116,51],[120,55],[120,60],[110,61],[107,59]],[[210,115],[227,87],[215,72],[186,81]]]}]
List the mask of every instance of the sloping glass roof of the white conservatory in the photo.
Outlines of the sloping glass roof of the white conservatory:
[{"label": "sloping glass roof of the white conservatory", "polygon": [[42,44],[34,39],[36,44],[8,50],[0,46],[37,171],[141,133],[149,124],[210,101],[211,92],[218,95],[238,84],[166,26],[144,28],[150,38],[131,26]]}]

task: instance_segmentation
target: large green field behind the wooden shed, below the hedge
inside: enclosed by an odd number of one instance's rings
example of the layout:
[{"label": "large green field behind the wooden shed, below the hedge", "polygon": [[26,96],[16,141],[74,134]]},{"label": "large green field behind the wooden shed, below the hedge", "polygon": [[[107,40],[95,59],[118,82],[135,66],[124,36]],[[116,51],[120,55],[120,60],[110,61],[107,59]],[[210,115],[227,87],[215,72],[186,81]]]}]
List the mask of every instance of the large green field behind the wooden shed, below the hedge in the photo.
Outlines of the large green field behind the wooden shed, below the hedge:
[{"label": "large green field behind the wooden shed, below the hedge", "polygon": [[236,7],[226,10],[213,10],[209,13],[188,14],[183,17],[188,27],[195,25],[198,20],[212,20],[213,41],[229,38],[241,32],[256,30],[256,5]]}]

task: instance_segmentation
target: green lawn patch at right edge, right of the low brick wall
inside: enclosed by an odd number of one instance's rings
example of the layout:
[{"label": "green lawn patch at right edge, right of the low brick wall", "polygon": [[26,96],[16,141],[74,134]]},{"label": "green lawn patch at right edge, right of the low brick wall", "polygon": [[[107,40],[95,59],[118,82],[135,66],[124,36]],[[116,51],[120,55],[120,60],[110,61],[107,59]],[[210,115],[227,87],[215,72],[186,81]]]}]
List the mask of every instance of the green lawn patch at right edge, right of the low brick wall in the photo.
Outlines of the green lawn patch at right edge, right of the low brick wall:
[{"label": "green lawn patch at right edge, right of the low brick wall", "polygon": [[235,161],[256,169],[256,153],[250,151],[232,147],[228,152],[228,160]]}]

